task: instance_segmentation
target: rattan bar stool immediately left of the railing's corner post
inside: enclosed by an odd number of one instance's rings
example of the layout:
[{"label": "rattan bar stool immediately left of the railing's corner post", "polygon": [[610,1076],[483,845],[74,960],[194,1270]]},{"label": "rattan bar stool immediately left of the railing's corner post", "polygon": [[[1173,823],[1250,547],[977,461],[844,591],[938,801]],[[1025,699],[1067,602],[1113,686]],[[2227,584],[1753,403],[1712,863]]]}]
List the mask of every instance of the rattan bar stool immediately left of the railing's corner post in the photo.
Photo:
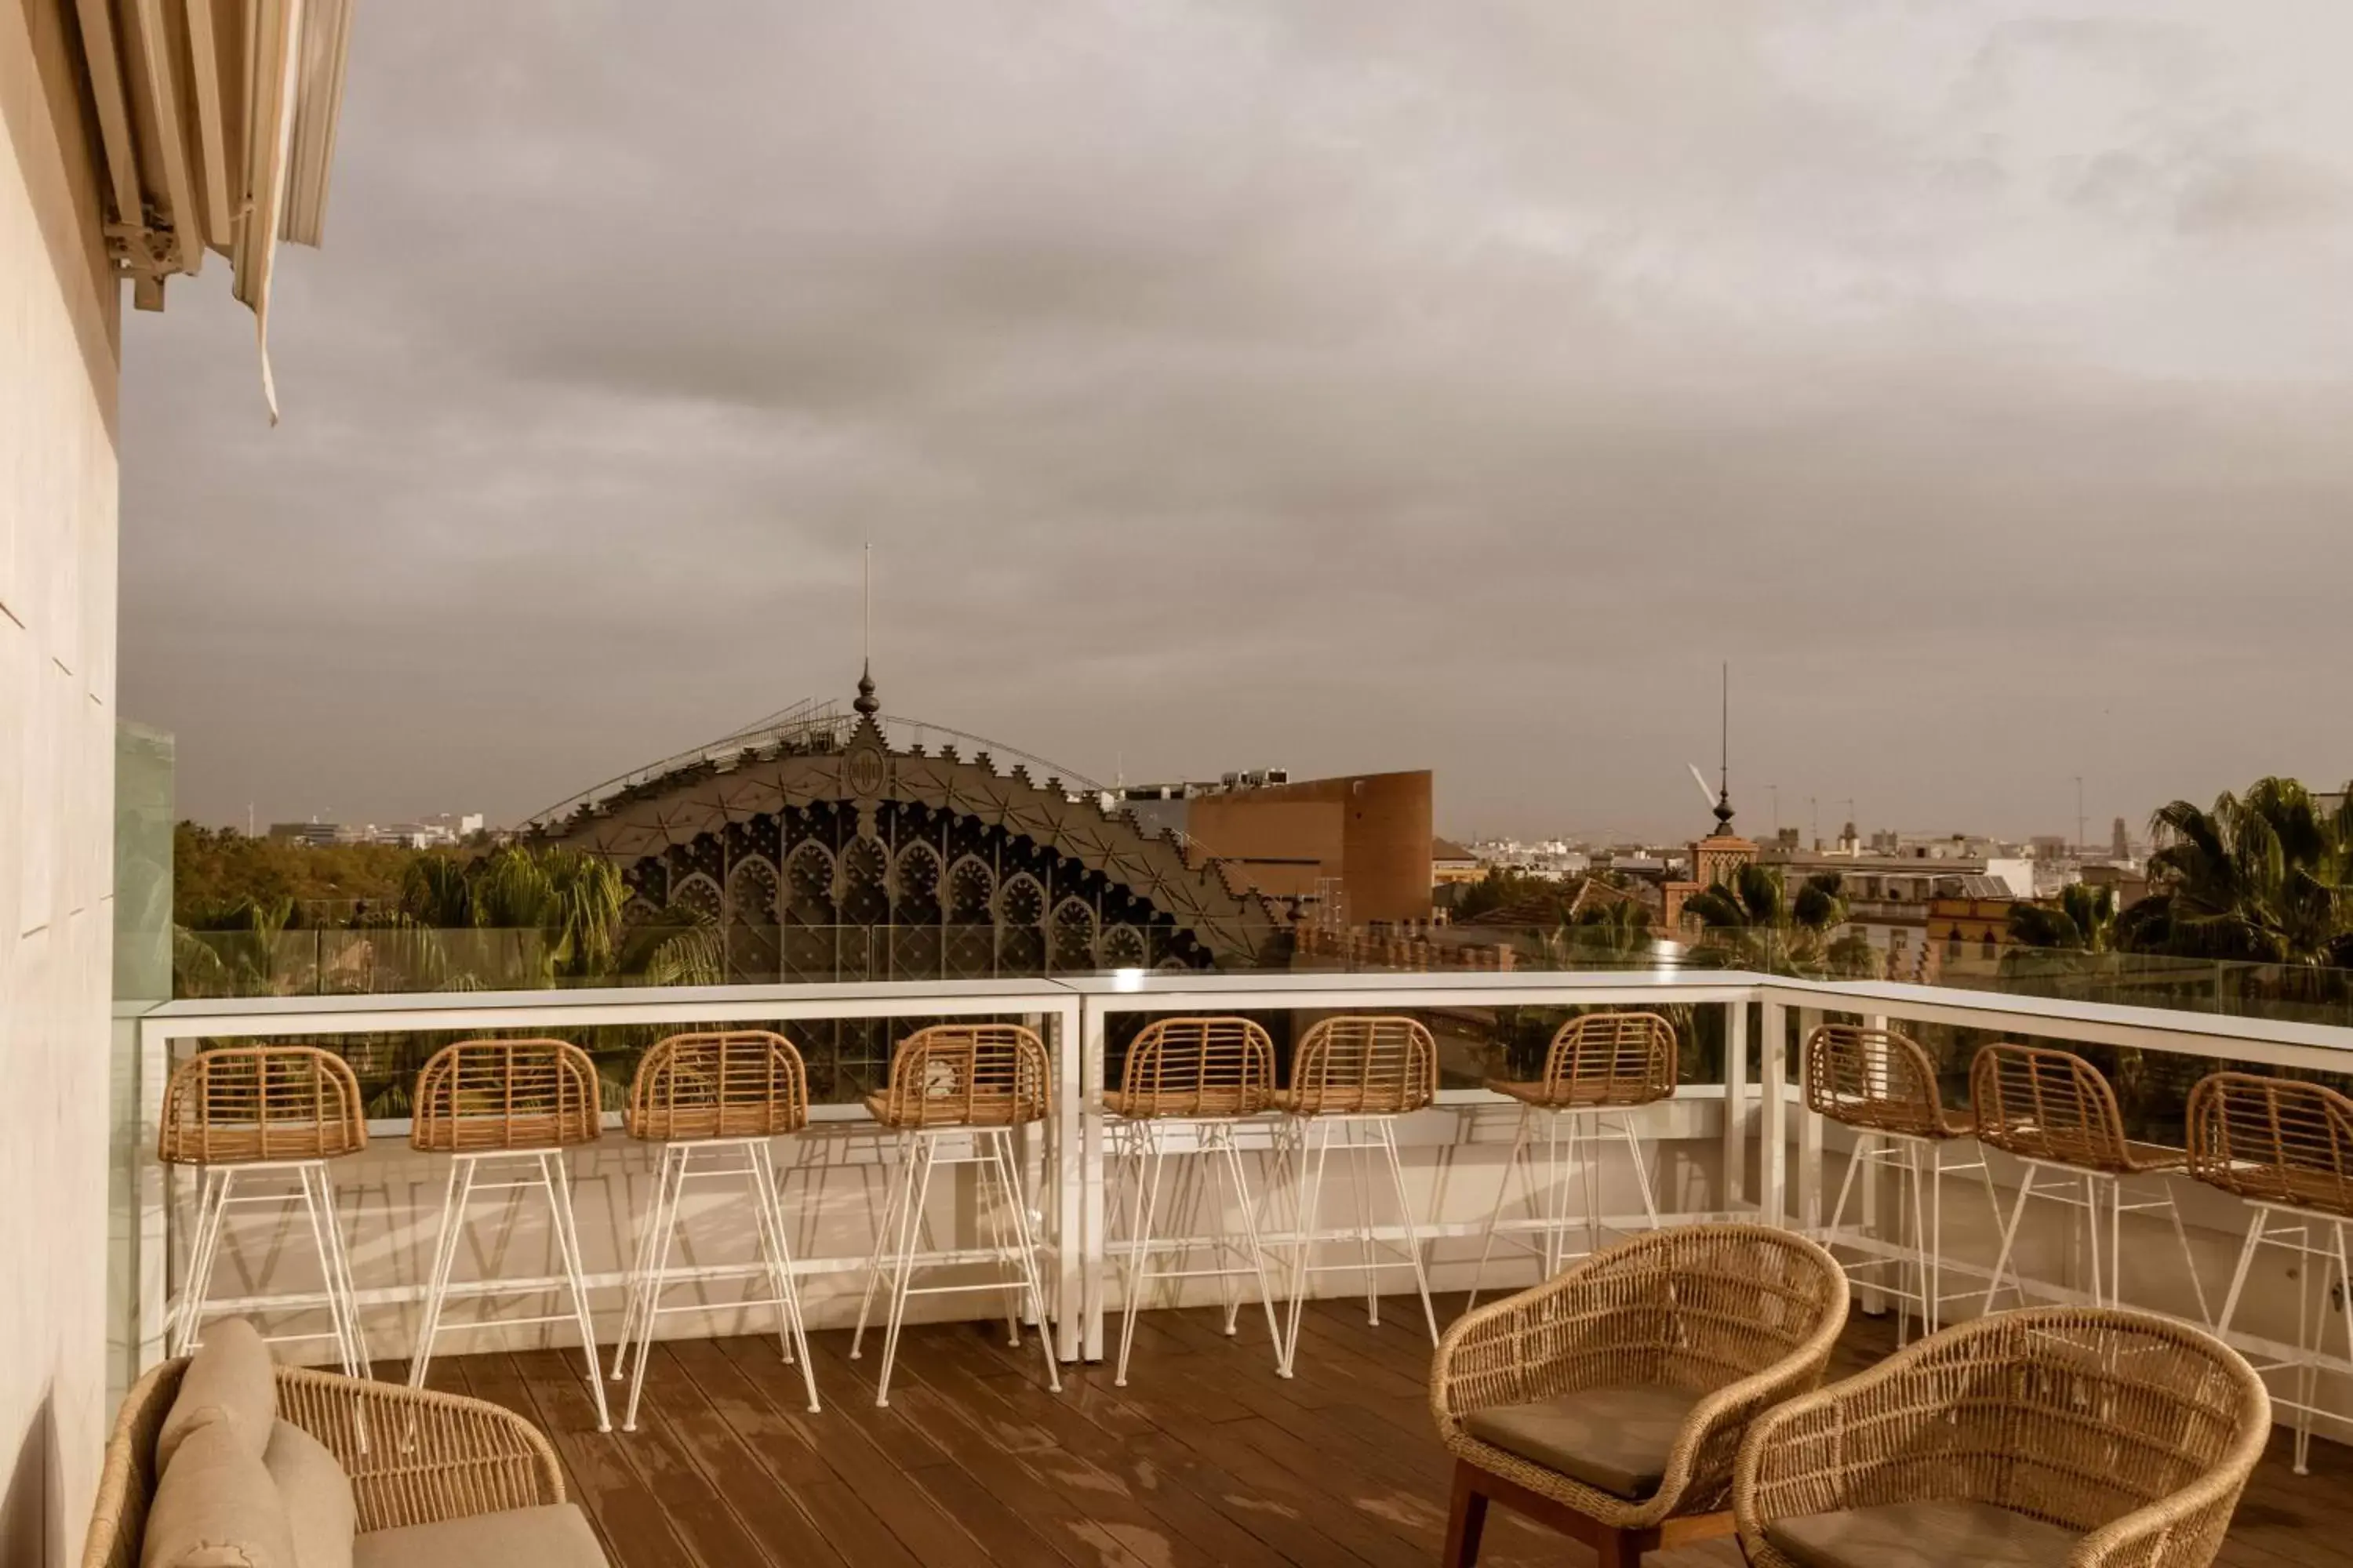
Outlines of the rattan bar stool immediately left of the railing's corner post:
[{"label": "rattan bar stool immediately left of the railing's corner post", "polygon": [[[1551,1279],[1569,1258],[1586,1258],[1602,1248],[1602,1161],[1593,1147],[1602,1135],[1617,1133],[1626,1140],[1626,1157],[1633,1161],[1635,1190],[1642,1194],[1642,1213],[1649,1229],[1659,1229],[1659,1199],[1649,1187],[1649,1168],[1642,1164],[1642,1140],[1633,1131],[1631,1112],[1642,1105],[1675,1098],[1675,1025],[1657,1013],[1586,1013],[1569,1018],[1553,1034],[1544,1056],[1544,1077],[1534,1081],[1487,1079],[1487,1088],[1520,1103],[1520,1126],[1511,1138],[1511,1157],[1504,1161],[1504,1180],[1494,1190],[1494,1211],[1487,1215],[1487,1241],[1478,1253],[1478,1274],[1471,1276],[1471,1300],[1464,1312],[1478,1307],[1480,1286],[1487,1284],[1487,1258],[1504,1232],[1504,1208],[1511,1201],[1513,1171],[1527,1173],[1527,1220],[1537,1232],[1534,1241],[1513,1234],[1501,1239],[1537,1258],[1537,1279]],[[1544,1124],[1544,1161],[1537,1171],[1537,1128]],[[1562,1138],[1567,1133],[1567,1138]],[[1579,1143],[1588,1145],[1579,1159]],[[1562,1171],[1577,1171],[1586,1190],[1586,1251],[1569,1253],[1569,1182]],[[1539,1206],[1537,1194],[1544,1192]]]}]

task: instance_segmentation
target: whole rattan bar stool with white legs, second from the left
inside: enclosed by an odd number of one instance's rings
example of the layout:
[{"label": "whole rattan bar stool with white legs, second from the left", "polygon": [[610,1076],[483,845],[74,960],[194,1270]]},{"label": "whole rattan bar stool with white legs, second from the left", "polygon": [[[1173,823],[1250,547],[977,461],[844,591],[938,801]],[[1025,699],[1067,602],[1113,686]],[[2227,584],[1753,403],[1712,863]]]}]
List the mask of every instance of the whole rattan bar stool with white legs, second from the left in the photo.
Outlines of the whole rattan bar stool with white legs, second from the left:
[{"label": "whole rattan bar stool with white legs, second from the left", "polygon": [[[536,1187],[548,1197],[548,1227],[555,1232],[572,1312],[496,1319],[494,1326],[565,1321],[579,1326],[581,1354],[588,1356],[588,1394],[595,1399],[595,1429],[612,1432],[595,1354],[595,1319],[588,1314],[581,1239],[572,1222],[572,1180],[565,1171],[565,1150],[595,1143],[600,1133],[595,1065],[588,1053],[562,1039],[461,1039],[435,1051],[416,1074],[412,1114],[409,1147],[447,1154],[449,1182],[442,1190],[426,1314],[409,1356],[409,1387],[426,1385],[433,1340],[440,1338],[442,1309],[452,1295],[541,1295],[551,1288],[548,1281],[499,1279],[449,1284],[466,1241],[466,1206],[473,1194]],[[485,1164],[492,1166],[492,1180],[482,1180]]]}]

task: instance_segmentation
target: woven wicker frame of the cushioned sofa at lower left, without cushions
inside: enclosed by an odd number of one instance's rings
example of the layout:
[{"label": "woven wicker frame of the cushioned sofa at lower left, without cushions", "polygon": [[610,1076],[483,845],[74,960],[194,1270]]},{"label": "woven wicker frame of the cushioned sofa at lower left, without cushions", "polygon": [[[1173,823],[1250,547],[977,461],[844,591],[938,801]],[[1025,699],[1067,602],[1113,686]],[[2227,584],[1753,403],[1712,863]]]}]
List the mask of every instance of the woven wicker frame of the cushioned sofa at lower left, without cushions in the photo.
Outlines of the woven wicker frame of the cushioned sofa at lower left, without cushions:
[{"label": "woven wicker frame of the cushioned sofa at lower left, without cushions", "polygon": [[[139,1568],[155,1497],[155,1436],[186,1371],[186,1356],[162,1361],[122,1401],[82,1568]],[[278,1418],[325,1443],[351,1476],[362,1535],[565,1500],[548,1439],[494,1403],[294,1366],[275,1368],[275,1380]]]}]

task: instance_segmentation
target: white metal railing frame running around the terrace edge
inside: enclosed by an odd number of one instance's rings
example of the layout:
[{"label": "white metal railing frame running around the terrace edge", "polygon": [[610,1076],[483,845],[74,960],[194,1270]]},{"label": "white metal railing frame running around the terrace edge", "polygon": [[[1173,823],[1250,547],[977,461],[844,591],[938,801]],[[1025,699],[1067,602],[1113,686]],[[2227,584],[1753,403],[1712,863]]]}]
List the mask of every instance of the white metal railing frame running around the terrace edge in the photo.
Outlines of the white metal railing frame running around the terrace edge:
[{"label": "white metal railing frame running around the terrace edge", "polygon": [[[1934,985],[1798,980],[1762,973],[1694,971],[1504,971],[1504,973],[1108,973],[1035,980],[894,980],[838,985],[720,985],[628,990],[534,990],[452,994],[365,994],[235,1001],[172,1001],[139,1020],[139,1143],[155,1147],[162,1084],[176,1051],[198,1039],[306,1037],[362,1032],[449,1032],[529,1027],[565,1034],[591,1025],[708,1025],[849,1020],[894,1016],[1031,1016],[1054,1053],[1054,1114],[1040,1133],[1038,1197],[1049,1255],[1049,1316],[1064,1359],[1094,1359],[1104,1347],[1106,1314],[1106,1147],[1101,1093],[1106,1025],[1113,1013],[1179,1011],[1414,1011],[1492,1006],[1708,1006],[1725,1011],[1725,1072],[1718,1084],[1689,1084],[1671,1107],[1657,1107],[1645,1138],[1720,1138],[1722,1173],[1706,1208],[1668,1208],[1661,1218],[1694,1220],[1725,1213],[1765,1215],[1809,1232],[1824,1220],[1826,1159],[1845,1147],[1845,1131],[1805,1112],[1791,1074],[1791,1044],[1824,1013],[1871,1020],[1958,1025],[1995,1034],[2028,1034],[2071,1044],[2132,1046],[2195,1058],[2252,1060],[2275,1067],[2353,1072],[2353,1030],[2313,1023],[2271,1023],[2141,1006],[2054,1001]],[[1760,1081],[1748,1081],[1751,1020],[1767,1048],[1758,1053]],[[1769,1048],[1777,1044],[1781,1048]],[[1489,1107],[1511,1105],[1482,1088],[1440,1093],[1407,1138],[1431,1159],[1445,1150],[1492,1143],[1480,1124],[1501,1126]],[[856,1121],[856,1107],[819,1114]],[[1680,1119],[1678,1119],[1680,1114]],[[391,1128],[386,1128],[391,1131]],[[873,1157],[880,1157],[875,1152]],[[1751,1157],[1755,1178],[1751,1180]],[[1864,1229],[1840,1234],[1842,1246],[1894,1251],[1871,1234],[1871,1185],[1864,1185]],[[2212,1215],[2238,1213],[2217,1197]],[[169,1258],[167,1175],[153,1161],[139,1182],[136,1300],[141,1345],[153,1345],[165,1312]],[[2224,1204],[2231,1204],[2224,1211]],[[1624,1215],[1609,1215],[1621,1220]],[[2228,1220],[2235,1222],[2235,1220]],[[1485,1225],[1438,1220],[1426,1239],[1445,1241]],[[2221,1227],[2219,1222],[2212,1227]],[[936,1253],[953,1260],[958,1253]],[[809,1272],[864,1267],[864,1258],[798,1258]],[[1972,1272],[1951,1260],[1946,1267]],[[1974,1269],[1984,1272],[1984,1269]],[[616,1284],[616,1281],[607,1281]],[[2066,1295],[2066,1281],[2033,1281]],[[367,1298],[372,1293],[362,1293]],[[398,1298],[398,1293],[393,1293]],[[374,1293],[386,1300],[384,1293]],[[1868,1300],[1868,1291],[1864,1293]],[[2254,1352],[2275,1342],[2233,1335]]]}]

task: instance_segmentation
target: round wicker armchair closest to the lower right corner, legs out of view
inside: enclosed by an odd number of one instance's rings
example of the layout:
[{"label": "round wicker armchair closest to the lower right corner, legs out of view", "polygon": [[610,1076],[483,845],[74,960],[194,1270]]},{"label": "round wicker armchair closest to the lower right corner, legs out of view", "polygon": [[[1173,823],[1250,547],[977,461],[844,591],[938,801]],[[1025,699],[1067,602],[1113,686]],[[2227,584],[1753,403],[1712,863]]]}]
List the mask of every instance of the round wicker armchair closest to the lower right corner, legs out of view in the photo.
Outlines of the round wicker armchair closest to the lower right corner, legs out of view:
[{"label": "round wicker armchair closest to the lower right corner, legs out of view", "polygon": [[2238,1352],[2101,1307],[1981,1316],[1762,1415],[1755,1568],[2202,1568],[2271,1436]]}]

